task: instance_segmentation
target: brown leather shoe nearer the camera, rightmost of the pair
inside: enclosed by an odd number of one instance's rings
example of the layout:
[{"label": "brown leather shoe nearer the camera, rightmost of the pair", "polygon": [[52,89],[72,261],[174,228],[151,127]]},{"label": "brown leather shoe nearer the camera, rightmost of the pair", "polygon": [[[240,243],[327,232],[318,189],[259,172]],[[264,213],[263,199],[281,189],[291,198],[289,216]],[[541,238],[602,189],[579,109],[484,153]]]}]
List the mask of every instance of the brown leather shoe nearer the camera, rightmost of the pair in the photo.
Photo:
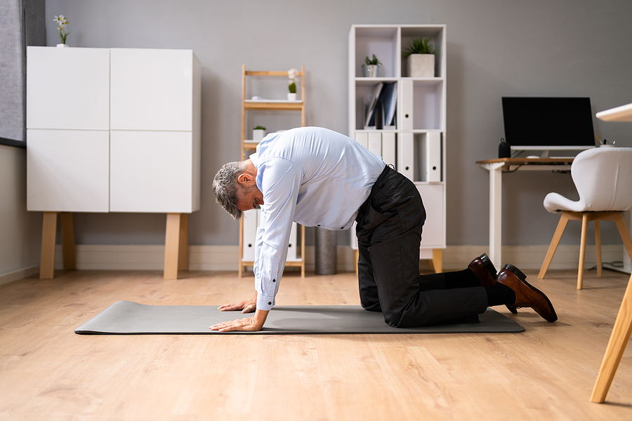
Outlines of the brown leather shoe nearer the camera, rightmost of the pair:
[{"label": "brown leather shoe nearer the camera, rightmost of the pair", "polygon": [[546,321],[556,321],[558,315],[551,301],[541,290],[529,285],[527,276],[520,272],[520,269],[513,265],[504,265],[498,274],[496,282],[508,286],[515,293],[515,303],[513,307],[531,307],[537,314],[542,316]]}]

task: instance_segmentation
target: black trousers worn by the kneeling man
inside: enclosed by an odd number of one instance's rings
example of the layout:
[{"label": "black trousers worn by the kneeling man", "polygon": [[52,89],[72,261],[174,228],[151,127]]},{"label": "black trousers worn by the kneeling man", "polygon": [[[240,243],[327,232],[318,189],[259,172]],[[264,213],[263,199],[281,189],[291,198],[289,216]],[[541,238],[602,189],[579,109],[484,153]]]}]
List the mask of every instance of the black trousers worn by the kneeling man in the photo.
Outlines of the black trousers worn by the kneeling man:
[{"label": "black trousers worn by the kneeling man", "polygon": [[487,309],[485,288],[446,289],[443,274],[419,274],[426,210],[411,180],[386,167],[356,218],[364,309],[394,327],[462,321]]}]

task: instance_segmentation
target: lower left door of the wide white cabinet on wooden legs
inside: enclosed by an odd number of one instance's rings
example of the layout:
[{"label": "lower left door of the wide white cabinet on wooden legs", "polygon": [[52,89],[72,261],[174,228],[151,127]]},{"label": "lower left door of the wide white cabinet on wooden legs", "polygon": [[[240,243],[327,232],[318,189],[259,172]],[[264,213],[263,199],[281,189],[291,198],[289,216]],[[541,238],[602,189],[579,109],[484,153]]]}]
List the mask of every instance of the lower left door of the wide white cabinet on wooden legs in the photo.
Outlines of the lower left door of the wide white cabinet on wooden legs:
[{"label": "lower left door of the wide white cabinet on wooden legs", "polygon": [[27,130],[27,209],[107,212],[110,132]]}]

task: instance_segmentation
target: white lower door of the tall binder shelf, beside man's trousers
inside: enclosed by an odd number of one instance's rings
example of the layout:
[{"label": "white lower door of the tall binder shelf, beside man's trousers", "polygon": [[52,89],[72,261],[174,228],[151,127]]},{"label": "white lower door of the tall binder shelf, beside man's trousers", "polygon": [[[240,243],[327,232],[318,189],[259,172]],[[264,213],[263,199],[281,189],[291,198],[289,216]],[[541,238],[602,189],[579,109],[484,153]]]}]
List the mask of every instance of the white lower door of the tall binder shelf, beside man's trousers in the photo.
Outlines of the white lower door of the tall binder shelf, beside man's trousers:
[{"label": "white lower door of the tall binder shelf, beside man's trousers", "polygon": [[445,247],[445,213],[442,184],[417,185],[426,208],[426,223],[423,224],[421,247]]}]

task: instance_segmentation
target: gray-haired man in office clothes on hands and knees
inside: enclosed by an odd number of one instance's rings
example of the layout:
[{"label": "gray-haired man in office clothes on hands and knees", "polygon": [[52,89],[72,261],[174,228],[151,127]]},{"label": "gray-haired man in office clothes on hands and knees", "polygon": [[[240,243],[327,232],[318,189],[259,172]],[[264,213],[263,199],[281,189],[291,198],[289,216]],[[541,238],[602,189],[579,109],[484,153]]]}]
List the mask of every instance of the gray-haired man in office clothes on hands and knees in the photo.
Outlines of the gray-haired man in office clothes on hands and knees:
[{"label": "gray-haired man in office clothes on hands and knees", "polygon": [[261,206],[255,248],[255,297],[221,310],[254,316],[212,330],[260,330],[275,305],[292,222],[348,229],[357,221],[358,283],[364,309],[382,312],[390,326],[411,327],[478,318],[487,307],[532,307],[557,320],[544,293],[512,265],[499,274],[486,255],[468,269],[419,274],[426,220],[421,196],[404,175],[345,135],[325,128],[271,133],[257,152],[227,163],[213,180],[216,200],[236,220]]}]

